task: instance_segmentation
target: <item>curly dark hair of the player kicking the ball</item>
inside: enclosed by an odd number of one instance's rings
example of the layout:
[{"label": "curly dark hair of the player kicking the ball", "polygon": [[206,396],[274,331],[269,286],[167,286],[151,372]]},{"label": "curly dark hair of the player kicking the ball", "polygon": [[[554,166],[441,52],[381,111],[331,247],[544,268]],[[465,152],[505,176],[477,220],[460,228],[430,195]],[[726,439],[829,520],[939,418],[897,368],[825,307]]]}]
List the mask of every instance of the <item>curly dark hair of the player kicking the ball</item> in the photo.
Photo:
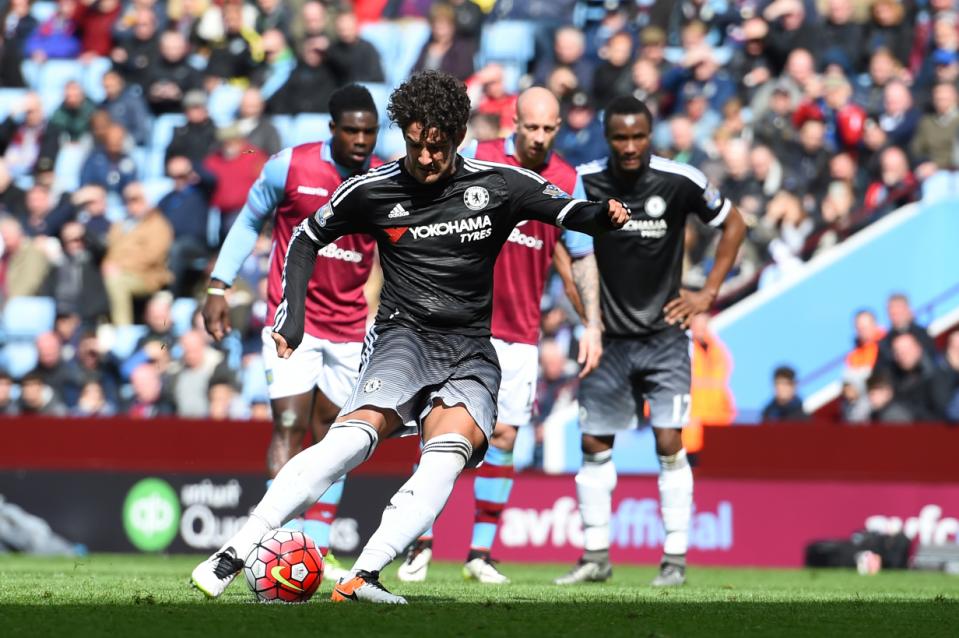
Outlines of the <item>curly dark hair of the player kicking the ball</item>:
[{"label": "curly dark hair of the player kicking the ball", "polygon": [[424,131],[435,128],[453,138],[466,128],[470,99],[466,85],[452,75],[423,71],[413,74],[393,91],[386,111],[402,131],[416,122]]}]

